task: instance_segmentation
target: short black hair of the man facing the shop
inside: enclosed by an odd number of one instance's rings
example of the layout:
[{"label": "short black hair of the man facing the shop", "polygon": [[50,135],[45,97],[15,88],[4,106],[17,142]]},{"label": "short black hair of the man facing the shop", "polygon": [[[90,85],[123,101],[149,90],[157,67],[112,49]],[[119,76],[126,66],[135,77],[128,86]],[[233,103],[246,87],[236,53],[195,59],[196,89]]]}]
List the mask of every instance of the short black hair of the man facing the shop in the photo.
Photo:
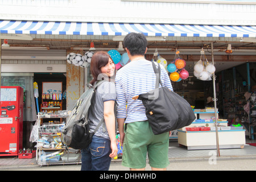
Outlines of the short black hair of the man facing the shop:
[{"label": "short black hair of the man facing the shop", "polygon": [[123,46],[129,49],[131,56],[144,55],[147,48],[146,36],[142,33],[134,33],[125,36]]}]

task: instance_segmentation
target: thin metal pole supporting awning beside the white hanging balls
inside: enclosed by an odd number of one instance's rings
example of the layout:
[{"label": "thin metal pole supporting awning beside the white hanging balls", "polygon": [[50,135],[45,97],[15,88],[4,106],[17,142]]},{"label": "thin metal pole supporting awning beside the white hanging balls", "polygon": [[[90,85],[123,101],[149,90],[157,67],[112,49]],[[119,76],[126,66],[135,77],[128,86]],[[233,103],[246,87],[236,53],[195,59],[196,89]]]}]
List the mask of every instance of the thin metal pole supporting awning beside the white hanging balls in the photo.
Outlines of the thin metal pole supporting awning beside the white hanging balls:
[{"label": "thin metal pole supporting awning beside the white hanging balls", "polygon": [[[213,42],[211,43],[212,47],[212,64],[214,65],[213,59]],[[217,122],[217,107],[216,107],[216,88],[215,88],[215,74],[212,76],[213,81],[213,101],[214,101],[214,113],[215,113],[215,128],[216,128],[216,147],[217,147],[217,156],[220,156],[220,146],[218,144],[218,122]]]}]

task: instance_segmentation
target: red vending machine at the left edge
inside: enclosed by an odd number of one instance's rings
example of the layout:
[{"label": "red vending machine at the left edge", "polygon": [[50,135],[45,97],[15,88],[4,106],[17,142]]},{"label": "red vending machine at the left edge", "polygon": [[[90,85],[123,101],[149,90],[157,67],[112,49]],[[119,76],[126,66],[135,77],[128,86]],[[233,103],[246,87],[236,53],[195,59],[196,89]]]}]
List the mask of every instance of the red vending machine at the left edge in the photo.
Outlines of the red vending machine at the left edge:
[{"label": "red vending machine at the left edge", "polygon": [[23,88],[1,86],[0,106],[0,156],[18,156],[23,137]]}]

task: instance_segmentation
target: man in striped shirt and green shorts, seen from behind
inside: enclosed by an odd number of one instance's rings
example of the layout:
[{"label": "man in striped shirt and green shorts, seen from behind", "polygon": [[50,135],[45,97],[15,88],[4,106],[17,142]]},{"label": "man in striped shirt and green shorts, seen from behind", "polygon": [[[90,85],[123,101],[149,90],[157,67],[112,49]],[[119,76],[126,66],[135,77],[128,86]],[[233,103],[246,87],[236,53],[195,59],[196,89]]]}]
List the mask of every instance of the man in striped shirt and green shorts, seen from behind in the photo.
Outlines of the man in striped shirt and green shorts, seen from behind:
[{"label": "man in striped shirt and green shorts, seen from behind", "polygon": [[[115,76],[117,121],[123,144],[122,165],[131,170],[144,170],[148,152],[152,170],[166,170],[169,164],[169,132],[154,135],[142,101],[133,100],[133,97],[155,88],[156,76],[152,63],[144,59],[147,52],[146,36],[130,33],[123,40],[123,45],[131,62],[119,69]],[[162,65],[160,68],[163,86],[173,91],[166,69]]]}]

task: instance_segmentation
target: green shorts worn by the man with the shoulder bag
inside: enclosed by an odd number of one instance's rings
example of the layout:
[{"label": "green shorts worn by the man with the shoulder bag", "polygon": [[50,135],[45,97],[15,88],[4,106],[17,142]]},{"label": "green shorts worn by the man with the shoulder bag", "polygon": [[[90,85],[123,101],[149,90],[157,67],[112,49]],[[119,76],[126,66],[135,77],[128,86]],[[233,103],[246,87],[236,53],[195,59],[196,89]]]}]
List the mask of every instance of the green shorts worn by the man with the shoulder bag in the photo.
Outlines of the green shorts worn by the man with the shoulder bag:
[{"label": "green shorts worn by the man with the shoulder bag", "polygon": [[129,168],[166,168],[168,160],[169,132],[154,135],[148,121],[127,123],[123,141],[122,165]]}]

